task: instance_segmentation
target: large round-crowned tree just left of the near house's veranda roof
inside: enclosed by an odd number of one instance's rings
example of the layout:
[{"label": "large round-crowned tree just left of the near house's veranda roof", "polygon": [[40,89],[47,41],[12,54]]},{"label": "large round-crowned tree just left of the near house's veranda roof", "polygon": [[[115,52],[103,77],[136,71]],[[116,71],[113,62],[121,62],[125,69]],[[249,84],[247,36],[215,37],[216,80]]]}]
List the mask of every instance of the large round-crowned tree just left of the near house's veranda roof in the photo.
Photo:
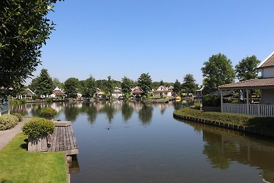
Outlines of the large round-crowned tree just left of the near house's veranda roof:
[{"label": "large round-crowned tree just left of the near house's veranda roof", "polygon": [[203,65],[201,71],[206,91],[234,82],[235,73],[232,62],[224,54],[219,53],[211,56]]}]

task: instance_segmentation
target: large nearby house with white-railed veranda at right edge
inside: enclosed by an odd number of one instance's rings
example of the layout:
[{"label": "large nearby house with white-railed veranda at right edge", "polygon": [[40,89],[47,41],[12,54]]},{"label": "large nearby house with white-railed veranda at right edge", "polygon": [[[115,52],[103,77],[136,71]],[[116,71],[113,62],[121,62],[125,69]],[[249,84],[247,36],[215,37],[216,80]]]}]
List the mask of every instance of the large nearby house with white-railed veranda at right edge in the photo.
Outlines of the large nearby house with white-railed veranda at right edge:
[{"label": "large nearby house with white-railed veranda at right edge", "polygon": [[[225,84],[221,90],[221,111],[274,117],[274,52],[258,65],[262,77]],[[260,103],[251,103],[250,90],[260,89]],[[223,103],[223,90],[239,90],[245,103]]]}]

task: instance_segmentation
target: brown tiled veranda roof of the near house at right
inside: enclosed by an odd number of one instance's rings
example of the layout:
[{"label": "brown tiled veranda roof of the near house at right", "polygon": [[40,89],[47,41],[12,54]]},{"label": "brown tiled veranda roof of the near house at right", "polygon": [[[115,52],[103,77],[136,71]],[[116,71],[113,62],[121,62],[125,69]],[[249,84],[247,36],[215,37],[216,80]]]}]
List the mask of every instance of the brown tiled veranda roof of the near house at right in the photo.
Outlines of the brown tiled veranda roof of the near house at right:
[{"label": "brown tiled veranda roof of the near house at right", "polygon": [[224,84],[222,86],[219,86],[219,88],[265,88],[268,86],[274,88],[274,78],[256,78],[252,80],[245,80],[242,82]]}]

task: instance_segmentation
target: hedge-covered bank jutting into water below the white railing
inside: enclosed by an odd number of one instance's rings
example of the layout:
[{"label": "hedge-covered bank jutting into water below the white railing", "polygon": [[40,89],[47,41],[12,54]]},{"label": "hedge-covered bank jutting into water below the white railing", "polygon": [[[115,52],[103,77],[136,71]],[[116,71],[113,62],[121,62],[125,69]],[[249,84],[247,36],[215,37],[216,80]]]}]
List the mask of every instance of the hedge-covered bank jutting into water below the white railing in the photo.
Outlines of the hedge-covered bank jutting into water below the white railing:
[{"label": "hedge-covered bank jutting into water below the white railing", "polygon": [[244,114],[229,114],[221,112],[203,112],[201,110],[194,110],[190,108],[182,108],[181,110],[175,110],[174,113],[186,117],[206,119],[209,121],[219,121],[222,123],[229,123],[234,125],[257,127],[258,129],[271,130],[274,132],[273,117],[258,117]]}]

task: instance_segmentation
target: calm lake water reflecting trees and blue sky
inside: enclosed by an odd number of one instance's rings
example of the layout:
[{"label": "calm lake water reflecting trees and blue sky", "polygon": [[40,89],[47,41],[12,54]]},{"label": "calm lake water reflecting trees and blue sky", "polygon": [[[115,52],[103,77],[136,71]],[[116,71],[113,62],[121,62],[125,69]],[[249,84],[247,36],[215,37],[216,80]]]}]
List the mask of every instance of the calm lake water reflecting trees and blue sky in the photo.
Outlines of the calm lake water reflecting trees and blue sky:
[{"label": "calm lake water reflecting trees and blue sky", "polygon": [[40,103],[14,110],[73,121],[79,173],[71,182],[274,182],[274,141],[173,119],[188,103]]}]

